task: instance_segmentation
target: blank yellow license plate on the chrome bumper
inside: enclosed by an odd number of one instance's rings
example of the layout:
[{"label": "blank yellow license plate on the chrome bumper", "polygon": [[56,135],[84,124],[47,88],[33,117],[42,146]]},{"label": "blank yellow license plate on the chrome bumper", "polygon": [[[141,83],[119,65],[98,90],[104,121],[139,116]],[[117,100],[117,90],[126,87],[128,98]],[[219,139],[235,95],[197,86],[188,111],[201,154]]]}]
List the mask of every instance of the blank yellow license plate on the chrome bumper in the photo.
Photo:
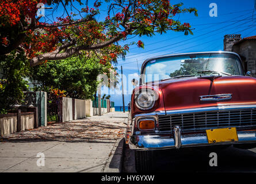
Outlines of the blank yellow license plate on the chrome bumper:
[{"label": "blank yellow license plate on the chrome bumper", "polygon": [[226,141],[238,141],[236,128],[209,129],[206,131],[208,143],[220,143]]}]

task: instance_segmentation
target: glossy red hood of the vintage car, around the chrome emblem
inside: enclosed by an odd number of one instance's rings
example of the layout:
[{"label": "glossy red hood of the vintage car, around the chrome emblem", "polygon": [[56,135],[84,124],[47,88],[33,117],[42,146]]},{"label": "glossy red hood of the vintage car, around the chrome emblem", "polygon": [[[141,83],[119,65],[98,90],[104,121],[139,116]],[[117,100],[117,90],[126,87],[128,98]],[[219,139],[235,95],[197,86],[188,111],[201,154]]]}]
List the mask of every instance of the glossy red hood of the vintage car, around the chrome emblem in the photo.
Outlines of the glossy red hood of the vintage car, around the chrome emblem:
[{"label": "glossy red hood of the vintage car, around the chrome emblem", "polygon": [[[219,105],[256,104],[256,79],[249,76],[190,77],[158,83],[165,110],[203,108]],[[224,101],[200,101],[201,95],[232,94]]]}]

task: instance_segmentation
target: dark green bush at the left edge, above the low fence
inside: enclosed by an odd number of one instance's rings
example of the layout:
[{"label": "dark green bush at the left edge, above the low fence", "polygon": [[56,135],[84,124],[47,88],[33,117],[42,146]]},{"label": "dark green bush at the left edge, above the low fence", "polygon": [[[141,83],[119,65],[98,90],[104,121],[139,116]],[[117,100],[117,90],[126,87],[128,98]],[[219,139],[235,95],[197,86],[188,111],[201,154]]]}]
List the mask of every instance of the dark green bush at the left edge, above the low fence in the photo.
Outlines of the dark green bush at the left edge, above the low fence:
[{"label": "dark green bush at the left edge, above the low fence", "polygon": [[0,56],[0,114],[22,102],[23,92],[28,88],[25,77],[29,73],[29,62],[24,53],[12,51]]}]

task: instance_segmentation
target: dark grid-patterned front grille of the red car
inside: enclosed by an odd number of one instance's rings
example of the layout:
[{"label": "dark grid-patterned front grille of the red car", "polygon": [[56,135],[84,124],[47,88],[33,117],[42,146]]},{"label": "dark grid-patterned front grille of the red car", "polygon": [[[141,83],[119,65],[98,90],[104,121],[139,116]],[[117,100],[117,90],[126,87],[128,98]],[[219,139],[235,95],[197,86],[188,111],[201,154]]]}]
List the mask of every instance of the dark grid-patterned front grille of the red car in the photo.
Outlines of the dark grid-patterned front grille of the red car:
[{"label": "dark grid-patterned front grille of the red car", "polygon": [[173,131],[175,125],[181,127],[181,132],[200,132],[223,127],[250,129],[256,128],[256,109],[170,114],[159,116],[158,122],[161,132]]}]

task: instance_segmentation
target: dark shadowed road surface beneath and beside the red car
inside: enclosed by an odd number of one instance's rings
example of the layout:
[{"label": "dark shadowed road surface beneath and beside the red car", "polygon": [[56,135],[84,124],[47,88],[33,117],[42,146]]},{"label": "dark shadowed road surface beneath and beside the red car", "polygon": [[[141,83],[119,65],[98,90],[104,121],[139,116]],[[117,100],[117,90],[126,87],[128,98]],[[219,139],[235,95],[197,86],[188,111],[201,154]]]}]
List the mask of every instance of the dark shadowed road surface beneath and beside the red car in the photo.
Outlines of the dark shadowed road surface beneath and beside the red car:
[{"label": "dark shadowed road surface beneath and beside the red car", "polygon": [[[216,152],[217,167],[209,166],[209,154]],[[134,151],[124,151],[123,172],[136,172]],[[181,150],[160,151],[155,154],[156,172],[256,172],[256,148],[241,150],[228,147],[224,150]]]}]

